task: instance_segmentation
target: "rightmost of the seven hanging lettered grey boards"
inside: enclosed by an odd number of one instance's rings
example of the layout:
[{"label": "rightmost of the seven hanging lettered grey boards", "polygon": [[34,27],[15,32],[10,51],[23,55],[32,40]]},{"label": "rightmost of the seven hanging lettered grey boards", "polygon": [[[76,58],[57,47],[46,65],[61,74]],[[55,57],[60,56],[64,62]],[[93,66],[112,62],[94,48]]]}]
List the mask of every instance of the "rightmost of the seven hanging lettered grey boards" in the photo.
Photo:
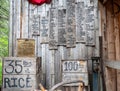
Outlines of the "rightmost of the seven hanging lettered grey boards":
[{"label": "rightmost of the seven hanging lettered grey boards", "polygon": [[94,2],[86,3],[85,6],[85,29],[86,29],[86,45],[95,45],[95,15]]}]

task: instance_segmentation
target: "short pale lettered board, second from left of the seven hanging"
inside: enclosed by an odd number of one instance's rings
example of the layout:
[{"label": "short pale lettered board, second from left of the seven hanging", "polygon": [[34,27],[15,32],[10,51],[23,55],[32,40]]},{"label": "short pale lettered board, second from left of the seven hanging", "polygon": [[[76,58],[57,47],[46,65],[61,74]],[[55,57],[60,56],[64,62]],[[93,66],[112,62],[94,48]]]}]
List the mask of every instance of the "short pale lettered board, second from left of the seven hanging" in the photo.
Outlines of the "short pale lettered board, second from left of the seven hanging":
[{"label": "short pale lettered board, second from left of the seven hanging", "polygon": [[46,16],[41,17],[40,21],[41,27],[40,27],[40,43],[48,43],[48,29],[49,29],[49,21]]}]

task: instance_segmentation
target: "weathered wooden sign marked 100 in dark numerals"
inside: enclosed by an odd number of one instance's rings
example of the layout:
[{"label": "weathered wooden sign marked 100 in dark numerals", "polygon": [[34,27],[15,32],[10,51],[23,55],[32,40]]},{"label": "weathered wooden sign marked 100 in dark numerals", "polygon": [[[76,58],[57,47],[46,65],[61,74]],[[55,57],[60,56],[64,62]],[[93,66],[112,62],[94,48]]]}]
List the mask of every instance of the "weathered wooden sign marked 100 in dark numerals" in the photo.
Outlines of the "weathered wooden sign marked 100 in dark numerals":
[{"label": "weathered wooden sign marked 100 in dark numerals", "polygon": [[[88,85],[87,61],[84,60],[63,60],[62,61],[62,80],[73,81],[82,80]],[[70,85],[79,85],[78,83]]]}]

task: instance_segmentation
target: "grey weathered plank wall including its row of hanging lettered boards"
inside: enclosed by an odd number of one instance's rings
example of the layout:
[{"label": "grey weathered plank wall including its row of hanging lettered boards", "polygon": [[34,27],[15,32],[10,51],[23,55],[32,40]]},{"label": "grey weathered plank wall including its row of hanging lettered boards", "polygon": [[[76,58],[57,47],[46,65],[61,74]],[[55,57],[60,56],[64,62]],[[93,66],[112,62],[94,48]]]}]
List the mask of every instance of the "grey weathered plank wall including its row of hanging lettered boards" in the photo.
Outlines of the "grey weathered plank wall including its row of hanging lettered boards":
[{"label": "grey weathered plank wall including its row of hanging lettered boards", "polygon": [[[51,12],[52,11],[52,12]],[[10,0],[9,56],[17,56],[17,39],[35,39],[42,58],[42,84],[61,82],[61,60],[99,56],[97,0],[53,0],[36,6]]]}]

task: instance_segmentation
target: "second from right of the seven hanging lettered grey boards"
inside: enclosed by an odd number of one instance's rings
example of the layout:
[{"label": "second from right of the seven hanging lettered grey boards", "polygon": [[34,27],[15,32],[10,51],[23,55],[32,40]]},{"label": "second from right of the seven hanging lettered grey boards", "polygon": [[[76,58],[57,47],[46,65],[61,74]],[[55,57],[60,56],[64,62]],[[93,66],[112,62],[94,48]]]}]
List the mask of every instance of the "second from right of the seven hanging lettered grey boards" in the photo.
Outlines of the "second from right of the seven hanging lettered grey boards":
[{"label": "second from right of the seven hanging lettered grey boards", "polygon": [[84,1],[78,2],[75,7],[76,16],[76,42],[85,43],[85,7]]}]

